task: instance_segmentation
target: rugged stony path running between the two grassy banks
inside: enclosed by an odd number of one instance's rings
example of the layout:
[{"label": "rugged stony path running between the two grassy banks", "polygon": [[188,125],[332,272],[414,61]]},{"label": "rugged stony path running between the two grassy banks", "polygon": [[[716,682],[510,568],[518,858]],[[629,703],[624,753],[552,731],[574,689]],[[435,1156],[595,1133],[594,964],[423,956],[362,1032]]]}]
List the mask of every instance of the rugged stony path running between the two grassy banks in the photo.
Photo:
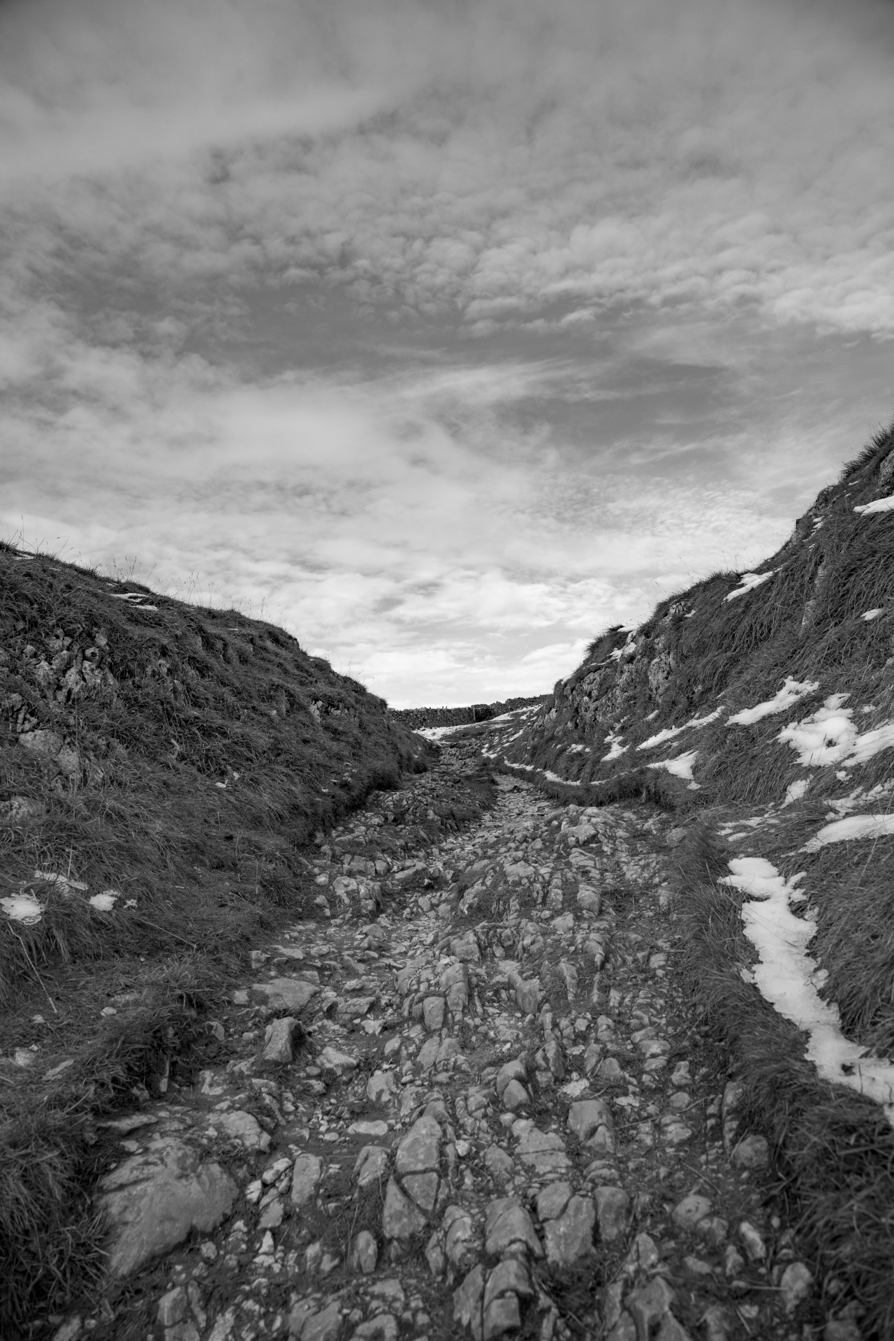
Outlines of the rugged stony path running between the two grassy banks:
[{"label": "rugged stony path running between the two grassy banks", "polygon": [[107,1128],[111,1283],[56,1341],[859,1336],[803,1324],[682,996],[672,821],[500,778],[438,837],[472,767],[445,746],[331,835],[318,920],[209,1022],[220,1065]]}]

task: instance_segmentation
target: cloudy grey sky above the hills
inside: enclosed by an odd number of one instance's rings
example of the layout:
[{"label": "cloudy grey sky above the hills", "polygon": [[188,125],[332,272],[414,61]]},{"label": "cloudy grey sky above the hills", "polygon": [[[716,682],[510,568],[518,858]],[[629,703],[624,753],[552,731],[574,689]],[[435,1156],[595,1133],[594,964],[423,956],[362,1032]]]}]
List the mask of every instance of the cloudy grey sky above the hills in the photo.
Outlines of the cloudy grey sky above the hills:
[{"label": "cloudy grey sky above the hills", "polygon": [[894,0],[7,0],[0,535],[548,692],[894,414]]}]

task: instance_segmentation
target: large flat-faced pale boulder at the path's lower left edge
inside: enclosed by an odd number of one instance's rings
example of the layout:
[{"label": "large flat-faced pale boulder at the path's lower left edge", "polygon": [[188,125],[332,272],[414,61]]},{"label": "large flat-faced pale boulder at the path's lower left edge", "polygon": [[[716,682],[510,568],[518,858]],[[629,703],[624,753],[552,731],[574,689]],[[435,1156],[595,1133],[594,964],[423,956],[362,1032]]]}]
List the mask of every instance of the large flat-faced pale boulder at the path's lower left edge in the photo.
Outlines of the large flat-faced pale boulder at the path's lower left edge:
[{"label": "large flat-faced pale boulder at the path's lower left edge", "polygon": [[176,1137],[154,1137],[99,1183],[113,1228],[109,1269],[125,1277],[229,1215],[237,1187],[220,1164],[202,1163]]}]

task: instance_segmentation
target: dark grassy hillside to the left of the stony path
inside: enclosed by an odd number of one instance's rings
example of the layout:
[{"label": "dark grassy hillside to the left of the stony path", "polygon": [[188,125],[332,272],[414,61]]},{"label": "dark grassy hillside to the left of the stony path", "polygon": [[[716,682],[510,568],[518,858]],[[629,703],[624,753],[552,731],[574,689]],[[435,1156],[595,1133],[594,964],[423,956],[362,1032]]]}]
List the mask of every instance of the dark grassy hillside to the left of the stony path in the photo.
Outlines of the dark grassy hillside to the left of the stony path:
[{"label": "dark grassy hillside to the left of the stony path", "polygon": [[[16,1307],[98,1258],[97,1114],[159,1093],[316,835],[420,738],[295,638],[0,547],[0,1259]],[[319,892],[316,892],[319,893]],[[4,1286],[5,1289],[5,1286]]]}]

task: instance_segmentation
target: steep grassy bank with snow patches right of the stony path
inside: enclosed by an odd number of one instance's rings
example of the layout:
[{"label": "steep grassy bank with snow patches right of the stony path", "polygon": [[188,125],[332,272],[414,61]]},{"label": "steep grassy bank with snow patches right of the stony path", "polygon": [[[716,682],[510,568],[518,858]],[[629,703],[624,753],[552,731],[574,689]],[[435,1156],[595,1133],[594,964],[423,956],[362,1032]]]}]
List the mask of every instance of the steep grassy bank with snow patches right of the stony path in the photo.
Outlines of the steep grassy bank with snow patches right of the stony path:
[{"label": "steep grassy bank with snow patches right of the stony path", "polygon": [[828,1290],[890,1336],[894,433],[755,573],[598,637],[492,758],[584,807],[646,795],[690,821],[693,990]]}]

